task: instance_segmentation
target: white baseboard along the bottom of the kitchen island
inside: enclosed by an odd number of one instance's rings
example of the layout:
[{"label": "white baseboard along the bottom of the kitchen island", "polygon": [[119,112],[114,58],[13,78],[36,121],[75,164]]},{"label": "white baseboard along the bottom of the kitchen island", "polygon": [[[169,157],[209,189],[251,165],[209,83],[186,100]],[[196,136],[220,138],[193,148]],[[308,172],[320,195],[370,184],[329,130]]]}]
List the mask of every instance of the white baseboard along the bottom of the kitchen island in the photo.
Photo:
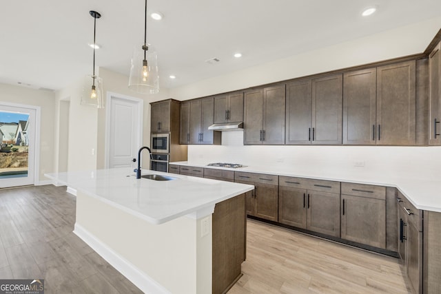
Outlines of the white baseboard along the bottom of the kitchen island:
[{"label": "white baseboard along the bottom of the kitchen island", "polygon": [[121,274],[127,277],[130,282],[135,284],[144,293],[150,294],[170,294],[163,286],[154,281],[151,277],[140,271],[132,263],[125,260],[118,253],[110,249],[106,244],[94,237],[89,231],[84,229],[81,224],[75,223],[74,234],[87,243],[96,253],[101,255]]}]

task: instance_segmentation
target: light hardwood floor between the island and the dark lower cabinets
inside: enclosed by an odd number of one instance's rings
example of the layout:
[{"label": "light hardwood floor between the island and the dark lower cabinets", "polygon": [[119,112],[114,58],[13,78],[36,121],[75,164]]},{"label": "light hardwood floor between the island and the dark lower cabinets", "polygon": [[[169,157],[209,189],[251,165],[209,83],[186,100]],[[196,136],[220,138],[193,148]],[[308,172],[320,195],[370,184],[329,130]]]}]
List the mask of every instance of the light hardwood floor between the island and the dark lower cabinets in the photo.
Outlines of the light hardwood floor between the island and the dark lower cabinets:
[{"label": "light hardwood floor between the island and the dark lower cabinets", "polygon": [[397,258],[247,221],[243,276],[228,294],[411,293]]}]

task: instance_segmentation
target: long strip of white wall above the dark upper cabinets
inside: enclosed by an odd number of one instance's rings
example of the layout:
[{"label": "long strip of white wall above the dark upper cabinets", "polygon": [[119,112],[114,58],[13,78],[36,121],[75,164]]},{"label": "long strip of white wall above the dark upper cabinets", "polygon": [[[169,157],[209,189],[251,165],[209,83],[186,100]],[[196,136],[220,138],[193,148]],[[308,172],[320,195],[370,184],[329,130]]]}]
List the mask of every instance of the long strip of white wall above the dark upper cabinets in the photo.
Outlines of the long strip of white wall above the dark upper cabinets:
[{"label": "long strip of white wall above the dark upper cabinets", "polygon": [[182,101],[419,54],[424,52],[440,30],[440,23],[441,17],[438,17],[327,48],[320,48],[287,59],[176,87],[170,90],[170,95]]}]

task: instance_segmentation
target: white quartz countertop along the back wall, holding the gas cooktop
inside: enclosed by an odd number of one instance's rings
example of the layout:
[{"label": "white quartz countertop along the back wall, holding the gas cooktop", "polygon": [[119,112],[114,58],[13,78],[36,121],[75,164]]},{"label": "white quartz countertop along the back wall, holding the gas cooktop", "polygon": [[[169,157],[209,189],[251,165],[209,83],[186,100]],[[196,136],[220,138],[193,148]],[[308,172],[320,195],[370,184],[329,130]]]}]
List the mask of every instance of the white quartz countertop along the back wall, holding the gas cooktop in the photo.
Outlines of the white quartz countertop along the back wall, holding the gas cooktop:
[{"label": "white quartz countertop along the back wall, holding the gas cooktop", "polygon": [[362,170],[360,170],[359,173],[353,173],[345,172],[338,168],[333,170],[324,170],[317,167],[316,169],[310,168],[307,172],[305,172],[301,169],[296,169],[296,167],[292,167],[290,169],[278,169],[277,167],[259,167],[258,165],[250,165],[247,167],[232,169],[198,164],[194,165],[187,161],[170,162],[170,164],[396,187],[404,196],[406,196],[407,199],[409,199],[410,202],[412,202],[417,209],[441,212],[441,176],[421,180],[418,179],[417,176],[411,176],[409,174],[386,174],[382,171],[365,172]]}]

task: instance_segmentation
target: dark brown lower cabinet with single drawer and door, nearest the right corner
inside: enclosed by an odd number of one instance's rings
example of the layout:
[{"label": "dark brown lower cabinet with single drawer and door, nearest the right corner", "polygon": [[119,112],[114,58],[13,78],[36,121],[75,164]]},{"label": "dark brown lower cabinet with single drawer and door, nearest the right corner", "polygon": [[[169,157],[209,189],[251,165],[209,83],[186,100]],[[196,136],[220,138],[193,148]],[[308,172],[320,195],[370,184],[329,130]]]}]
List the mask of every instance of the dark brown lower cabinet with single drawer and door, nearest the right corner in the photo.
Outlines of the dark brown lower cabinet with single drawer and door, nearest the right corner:
[{"label": "dark brown lower cabinet with single drawer and door, nearest the right corner", "polygon": [[342,182],[342,239],[386,248],[386,187]]}]

